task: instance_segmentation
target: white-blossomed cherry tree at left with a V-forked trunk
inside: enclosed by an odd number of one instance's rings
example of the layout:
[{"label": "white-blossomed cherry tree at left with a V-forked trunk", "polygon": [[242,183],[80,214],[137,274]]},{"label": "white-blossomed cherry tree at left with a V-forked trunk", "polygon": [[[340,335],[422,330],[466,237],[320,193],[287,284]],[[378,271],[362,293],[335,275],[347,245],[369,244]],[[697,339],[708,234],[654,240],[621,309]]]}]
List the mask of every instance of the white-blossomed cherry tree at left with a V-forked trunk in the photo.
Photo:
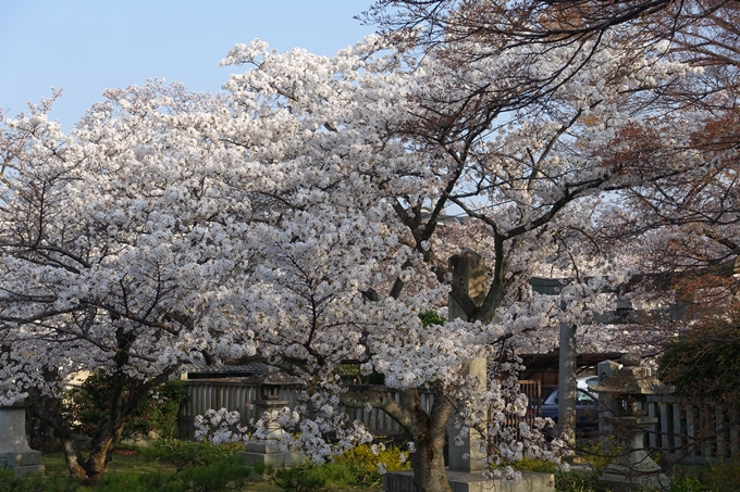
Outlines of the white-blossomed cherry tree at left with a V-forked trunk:
[{"label": "white-blossomed cherry tree at left with a V-forked trunk", "polygon": [[[7,122],[0,147],[0,400],[26,395],[62,441],[71,472],[90,482],[139,401],[183,362],[206,348],[254,351],[230,345],[215,313],[194,311],[194,298],[229,268],[219,265],[232,262],[212,238],[250,214],[248,202],[219,191],[235,181],[201,160],[207,141],[168,123],[212,118],[222,103],[158,83],[107,97],[70,135],[47,119],[48,102],[33,106]],[[59,400],[81,370],[111,377],[108,422],[87,458]]]}]

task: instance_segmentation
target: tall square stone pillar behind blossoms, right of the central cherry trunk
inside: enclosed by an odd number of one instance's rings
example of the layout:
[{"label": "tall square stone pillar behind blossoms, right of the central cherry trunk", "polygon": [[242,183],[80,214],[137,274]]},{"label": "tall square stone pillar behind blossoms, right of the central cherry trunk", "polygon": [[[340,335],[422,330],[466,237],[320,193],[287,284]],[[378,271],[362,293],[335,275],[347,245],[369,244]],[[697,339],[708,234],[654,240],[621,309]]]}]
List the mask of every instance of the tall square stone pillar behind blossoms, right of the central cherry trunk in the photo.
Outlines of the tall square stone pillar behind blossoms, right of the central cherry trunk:
[{"label": "tall square stone pillar behind blossoms, right of the central cherry trunk", "polygon": [[[449,320],[457,318],[470,320],[465,306],[461,306],[455,298],[465,300],[464,302],[472,302],[477,307],[483,304],[485,299],[485,260],[478,253],[466,251],[449,258],[449,269],[453,273],[453,293],[449,295],[447,317]],[[481,357],[470,361],[467,375],[474,376],[479,381],[479,388],[484,391],[488,386],[485,358]],[[462,445],[455,445],[454,440],[459,433],[459,429],[454,426],[454,417],[451,418],[451,422],[447,425],[449,470],[466,472],[483,470],[485,468],[483,459],[486,453],[481,452],[478,446],[471,445],[481,439],[481,436],[477,431],[471,430],[470,434],[464,439]]]}]

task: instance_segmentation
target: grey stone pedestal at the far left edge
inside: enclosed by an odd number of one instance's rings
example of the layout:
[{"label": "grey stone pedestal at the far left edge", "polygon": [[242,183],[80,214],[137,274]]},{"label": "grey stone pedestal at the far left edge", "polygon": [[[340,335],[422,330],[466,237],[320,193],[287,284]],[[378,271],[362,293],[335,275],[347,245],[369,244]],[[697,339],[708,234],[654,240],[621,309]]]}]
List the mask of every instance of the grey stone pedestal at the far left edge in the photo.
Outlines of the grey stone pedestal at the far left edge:
[{"label": "grey stone pedestal at the far left edge", "polygon": [[23,401],[0,406],[0,468],[10,468],[16,476],[44,474],[41,452],[28,446]]}]

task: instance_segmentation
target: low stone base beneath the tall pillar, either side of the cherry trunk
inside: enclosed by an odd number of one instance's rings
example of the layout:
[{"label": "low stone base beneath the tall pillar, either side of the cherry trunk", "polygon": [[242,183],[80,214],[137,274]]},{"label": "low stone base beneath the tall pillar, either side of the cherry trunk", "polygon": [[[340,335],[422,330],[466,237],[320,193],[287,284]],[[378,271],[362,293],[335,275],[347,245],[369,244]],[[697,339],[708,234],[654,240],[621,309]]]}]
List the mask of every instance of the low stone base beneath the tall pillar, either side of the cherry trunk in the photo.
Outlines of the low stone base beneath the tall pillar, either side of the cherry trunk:
[{"label": "low stone base beneath the tall pillar, either side of the cherry trunk", "polygon": [[[466,474],[447,471],[453,492],[555,492],[555,476],[523,471],[516,483],[503,483],[499,479],[486,480],[482,472]],[[384,492],[415,492],[414,471],[392,471],[383,475]]]}]

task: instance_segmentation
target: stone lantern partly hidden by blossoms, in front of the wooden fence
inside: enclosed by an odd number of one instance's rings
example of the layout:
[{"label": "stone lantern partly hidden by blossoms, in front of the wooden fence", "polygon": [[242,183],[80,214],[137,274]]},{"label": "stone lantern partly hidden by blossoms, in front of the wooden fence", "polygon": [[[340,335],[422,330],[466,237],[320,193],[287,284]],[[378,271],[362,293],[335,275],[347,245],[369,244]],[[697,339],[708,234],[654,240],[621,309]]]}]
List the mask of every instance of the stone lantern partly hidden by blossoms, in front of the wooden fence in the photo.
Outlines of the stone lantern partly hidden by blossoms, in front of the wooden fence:
[{"label": "stone lantern partly hidden by blossoms, in front of the wooden fence", "polygon": [[[257,393],[259,398],[254,402],[258,417],[264,412],[272,412],[287,406],[288,400],[285,398],[285,389],[299,382],[286,373],[274,368],[271,369],[258,378]],[[289,451],[283,452],[281,450],[280,439],[284,434],[285,431],[276,422],[270,422],[267,428],[267,439],[250,440],[247,442],[246,450],[238,454],[247,465],[259,463],[274,467],[285,467],[303,463],[303,454]]]}]

